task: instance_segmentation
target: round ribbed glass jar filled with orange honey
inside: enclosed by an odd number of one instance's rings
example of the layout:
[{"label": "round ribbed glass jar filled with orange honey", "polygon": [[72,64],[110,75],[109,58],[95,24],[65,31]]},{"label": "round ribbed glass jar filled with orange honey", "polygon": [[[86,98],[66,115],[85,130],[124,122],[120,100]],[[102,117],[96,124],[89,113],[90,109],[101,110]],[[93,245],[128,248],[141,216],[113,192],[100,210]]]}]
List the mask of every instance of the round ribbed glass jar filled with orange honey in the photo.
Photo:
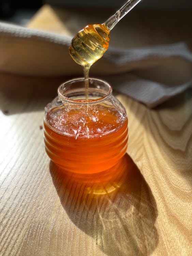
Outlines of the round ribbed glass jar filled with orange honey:
[{"label": "round ribbed glass jar filled with orange honey", "polygon": [[127,150],[128,119],[105,81],[84,78],[61,84],[45,108],[45,149],[64,170],[96,173],[115,166]]}]

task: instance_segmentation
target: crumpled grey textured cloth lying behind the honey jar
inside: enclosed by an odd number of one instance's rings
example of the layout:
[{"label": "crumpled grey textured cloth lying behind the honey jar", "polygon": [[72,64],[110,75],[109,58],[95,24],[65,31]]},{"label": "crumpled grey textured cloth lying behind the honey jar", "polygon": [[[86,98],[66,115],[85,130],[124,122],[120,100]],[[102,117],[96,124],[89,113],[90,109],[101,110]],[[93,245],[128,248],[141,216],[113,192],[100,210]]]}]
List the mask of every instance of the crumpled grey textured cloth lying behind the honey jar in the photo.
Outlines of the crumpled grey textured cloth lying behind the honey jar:
[{"label": "crumpled grey textured cloth lying behind the honey jar", "polygon": [[[82,76],[70,57],[70,37],[0,23],[0,71]],[[192,53],[184,42],[136,49],[109,47],[90,71],[150,108],[192,87]]]}]

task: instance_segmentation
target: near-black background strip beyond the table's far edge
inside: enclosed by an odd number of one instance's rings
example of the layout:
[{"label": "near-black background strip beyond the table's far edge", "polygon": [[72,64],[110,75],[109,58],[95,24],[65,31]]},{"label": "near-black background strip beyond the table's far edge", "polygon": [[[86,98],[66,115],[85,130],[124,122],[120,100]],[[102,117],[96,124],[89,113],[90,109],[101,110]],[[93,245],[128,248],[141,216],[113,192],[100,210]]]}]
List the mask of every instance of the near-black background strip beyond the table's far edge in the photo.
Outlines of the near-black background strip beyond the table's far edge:
[{"label": "near-black background strip beyond the table's far edge", "polygon": [[[44,4],[63,8],[118,9],[126,0],[0,0],[0,20],[25,25]],[[143,0],[136,9],[192,10],[191,0]]]}]

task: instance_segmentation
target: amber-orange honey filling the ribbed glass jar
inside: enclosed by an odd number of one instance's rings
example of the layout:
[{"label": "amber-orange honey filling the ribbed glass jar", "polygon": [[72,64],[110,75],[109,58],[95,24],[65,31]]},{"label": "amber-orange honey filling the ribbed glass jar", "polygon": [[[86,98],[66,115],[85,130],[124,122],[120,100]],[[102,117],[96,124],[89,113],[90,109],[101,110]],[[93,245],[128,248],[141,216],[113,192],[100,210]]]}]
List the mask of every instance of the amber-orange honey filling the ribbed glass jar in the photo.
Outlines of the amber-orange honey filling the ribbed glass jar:
[{"label": "amber-orange honey filling the ribbed glass jar", "polygon": [[96,173],[113,167],[127,150],[128,119],[104,103],[54,108],[44,121],[48,156],[67,171]]}]

